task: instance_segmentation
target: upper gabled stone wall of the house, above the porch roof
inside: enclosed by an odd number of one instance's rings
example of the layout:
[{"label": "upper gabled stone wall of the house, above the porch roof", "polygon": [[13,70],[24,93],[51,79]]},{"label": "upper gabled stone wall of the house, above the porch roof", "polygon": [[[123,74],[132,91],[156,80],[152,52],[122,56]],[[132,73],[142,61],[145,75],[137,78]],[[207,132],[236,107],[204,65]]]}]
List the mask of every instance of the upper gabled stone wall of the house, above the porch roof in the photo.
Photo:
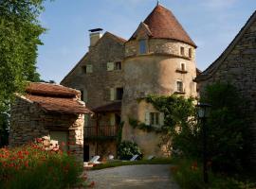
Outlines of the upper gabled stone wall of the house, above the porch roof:
[{"label": "upper gabled stone wall of the house, above the porch roof", "polygon": [[[106,32],[101,40],[78,66],[64,78],[62,85],[87,92],[86,107],[93,110],[97,107],[113,102],[110,100],[110,89],[124,87],[123,69],[107,71],[107,62],[121,61],[123,67],[124,43],[117,37]],[[85,74],[83,67],[87,64],[93,66],[93,73]],[[95,121],[89,120],[88,126],[95,126]],[[105,123],[105,125],[107,125]]]}]

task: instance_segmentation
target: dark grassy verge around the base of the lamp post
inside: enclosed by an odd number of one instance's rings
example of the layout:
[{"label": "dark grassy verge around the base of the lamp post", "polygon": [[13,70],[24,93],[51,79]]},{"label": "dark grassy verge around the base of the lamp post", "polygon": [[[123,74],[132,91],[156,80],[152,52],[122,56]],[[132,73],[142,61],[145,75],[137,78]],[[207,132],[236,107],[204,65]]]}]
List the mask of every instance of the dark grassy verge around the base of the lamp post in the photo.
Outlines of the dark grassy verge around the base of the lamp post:
[{"label": "dark grassy verge around the base of the lamp post", "polygon": [[239,175],[214,174],[209,171],[209,183],[205,184],[202,177],[202,165],[188,159],[173,160],[171,168],[174,180],[181,189],[256,189],[256,182]]}]

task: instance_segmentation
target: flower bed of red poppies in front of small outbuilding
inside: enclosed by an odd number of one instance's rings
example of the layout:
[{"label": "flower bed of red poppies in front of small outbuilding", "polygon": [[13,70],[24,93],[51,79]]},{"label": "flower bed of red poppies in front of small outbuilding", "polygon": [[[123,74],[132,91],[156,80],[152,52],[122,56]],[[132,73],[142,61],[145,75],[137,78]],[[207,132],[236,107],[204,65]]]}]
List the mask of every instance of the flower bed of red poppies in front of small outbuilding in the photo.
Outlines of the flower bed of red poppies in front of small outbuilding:
[{"label": "flower bed of red poppies in front of small outbuilding", "polygon": [[80,183],[82,165],[46,141],[0,149],[0,188],[67,188]]}]

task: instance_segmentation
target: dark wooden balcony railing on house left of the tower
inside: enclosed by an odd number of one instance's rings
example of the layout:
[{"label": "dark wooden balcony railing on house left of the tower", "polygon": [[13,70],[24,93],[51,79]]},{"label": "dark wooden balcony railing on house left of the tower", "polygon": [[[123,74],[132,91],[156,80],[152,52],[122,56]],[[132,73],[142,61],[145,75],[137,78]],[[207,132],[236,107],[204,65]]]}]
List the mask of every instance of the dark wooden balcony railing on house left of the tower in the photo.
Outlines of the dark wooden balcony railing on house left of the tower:
[{"label": "dark wooden balcony railing on house left of the tower", "polygon": [[118,136],[118,126],[99,126],[99,127],[85,127],[84,138],[85,139],[97,139],[97,138],[115,138]]}]

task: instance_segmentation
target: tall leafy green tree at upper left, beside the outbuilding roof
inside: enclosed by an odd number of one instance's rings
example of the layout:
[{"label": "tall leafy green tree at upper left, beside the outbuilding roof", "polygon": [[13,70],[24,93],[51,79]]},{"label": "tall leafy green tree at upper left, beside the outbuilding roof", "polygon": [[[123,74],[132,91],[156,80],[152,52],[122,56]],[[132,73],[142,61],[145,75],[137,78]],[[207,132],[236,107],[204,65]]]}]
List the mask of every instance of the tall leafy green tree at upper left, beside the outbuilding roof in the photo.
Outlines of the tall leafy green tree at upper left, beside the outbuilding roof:
[{"label": "tall leafy green tree at upper left, beside the outbuilding roof", "polygon": [[38,81],[39,37],[46,30],[38,21],[44,0],[0,0],[0,112],[8,112],[14,93],[27,81]]}]

